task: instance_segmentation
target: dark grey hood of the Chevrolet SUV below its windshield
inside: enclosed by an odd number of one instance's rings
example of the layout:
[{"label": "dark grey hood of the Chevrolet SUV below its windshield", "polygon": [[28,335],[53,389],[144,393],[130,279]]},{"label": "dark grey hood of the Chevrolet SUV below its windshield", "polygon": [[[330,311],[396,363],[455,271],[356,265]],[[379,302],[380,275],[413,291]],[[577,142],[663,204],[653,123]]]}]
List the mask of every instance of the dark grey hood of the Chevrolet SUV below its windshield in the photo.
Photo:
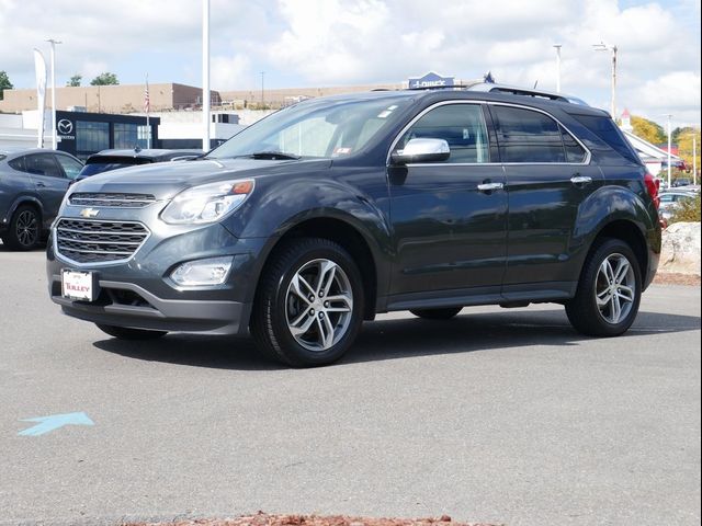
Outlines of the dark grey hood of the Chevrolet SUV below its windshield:
[{"label": "dark grey hood of the Chevrolet SUV below its windshield", "polygon": [[151,194],[170,199],[185,188],[229,179],[310,173],[331,165],[328,159],[272,161],[261,159],[200,159],[123,168],[84,179],[71,193]]}]

